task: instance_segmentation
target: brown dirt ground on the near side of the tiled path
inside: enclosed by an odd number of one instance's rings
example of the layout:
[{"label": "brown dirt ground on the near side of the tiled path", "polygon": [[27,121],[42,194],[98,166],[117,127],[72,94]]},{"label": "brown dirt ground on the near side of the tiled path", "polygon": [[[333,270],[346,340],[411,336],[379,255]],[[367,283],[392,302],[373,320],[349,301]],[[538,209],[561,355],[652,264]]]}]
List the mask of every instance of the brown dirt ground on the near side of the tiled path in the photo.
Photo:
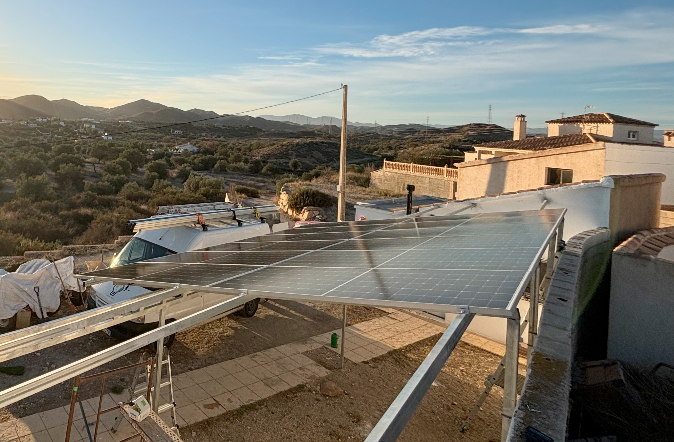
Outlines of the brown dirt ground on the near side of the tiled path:
[{"label": "brown dirt ground on the near side of the tiled path", "polygon": [[[321,379],[317,379],[183,427],[181,437],[187,442],[363,441],[439,336],[361,364],[347,360],[344,369],[326,377],[344,390],[340,396],[321,395]],[[305,355],[329,369],[334,369],[338,358],[324,348]],[[499,441],[503,401],[499,388],[493,389],[470,429],[459,431],[485,377],[497,365],[497,356],[460,342],[398,440]]]}]

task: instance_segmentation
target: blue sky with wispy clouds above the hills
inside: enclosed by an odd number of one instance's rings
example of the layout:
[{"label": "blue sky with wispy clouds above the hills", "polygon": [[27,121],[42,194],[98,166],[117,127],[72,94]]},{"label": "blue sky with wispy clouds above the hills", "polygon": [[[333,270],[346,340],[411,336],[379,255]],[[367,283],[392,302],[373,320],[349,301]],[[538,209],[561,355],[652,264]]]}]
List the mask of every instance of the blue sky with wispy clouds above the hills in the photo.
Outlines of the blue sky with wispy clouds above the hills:
[{"label": "blue sky with wispy clouds above the hills", "polygon": [[[350,121],[674,127],[670,1],[0,1],[0,97],[234,113],[349,85]],[[259,113],[340,115],[339,92]],[[257,114],[257,113],[254,113]]]}]

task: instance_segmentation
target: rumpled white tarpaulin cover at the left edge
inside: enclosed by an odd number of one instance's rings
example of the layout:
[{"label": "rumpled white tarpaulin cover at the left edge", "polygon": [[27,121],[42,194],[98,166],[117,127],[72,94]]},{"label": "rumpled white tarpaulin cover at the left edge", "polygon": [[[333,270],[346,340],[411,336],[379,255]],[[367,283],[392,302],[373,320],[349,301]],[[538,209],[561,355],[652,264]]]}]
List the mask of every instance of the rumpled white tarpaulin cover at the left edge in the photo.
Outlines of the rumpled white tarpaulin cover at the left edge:
[{"label": "rumpled white tarpaulin cover at the left edge", "polygon": [[[12,317],[26,305],[39,318],[44,317],[45,312],[57,311],[61,305],[59,292],[62,290],[59,274],[67,290],[78,290],[78,282],[73,277],[73,263],[71,256],[54,263],[47,259],[32,259],[20,265],[16,272],[0,272],[0,319]],[[38,307],[36,287],[40,291],[42,311]]]}]

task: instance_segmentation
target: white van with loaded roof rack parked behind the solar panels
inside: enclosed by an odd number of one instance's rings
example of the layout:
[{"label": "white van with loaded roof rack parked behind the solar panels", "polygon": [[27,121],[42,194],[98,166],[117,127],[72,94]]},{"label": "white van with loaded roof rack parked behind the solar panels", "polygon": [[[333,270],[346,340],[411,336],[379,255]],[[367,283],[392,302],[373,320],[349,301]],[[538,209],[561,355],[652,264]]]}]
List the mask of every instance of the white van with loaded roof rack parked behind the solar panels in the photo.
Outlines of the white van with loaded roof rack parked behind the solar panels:
[{"label": "white van with loaded roof rack parked behind the solar panels", "polygon": [[[180,210],[181,207],[188,207],[190,211],[194,209],[195,205],[173,206],[172,210]],[[184,225],[180,224],[180,216],[175,215],[160,215],[145,220],[129,221],[131,224],[145,223],[158,224],[157,227],[150,226],[149,230],[141,230],[124,246],[123,249],[113,259],[111,267],[135,263],[138,261],[146,261],[147,259],[158,258],[173,253],[182,253],[186,251],[193,251],[204,249],[205,247],[212,247],[224,243],[231,243],[241,239],[251,238],[268,234],[272,230],[272,224],[278,224],[280,220],[280,211],[277,206],[259,206],[257,208],[241,208],[237,209],[233,205],[233,210],[226,209],[220,211],[202,212],[210,214],[204,224],[196,224],[193,216],[185,214]],[[162,208],[160,208],[162,209]],[[197,211],[195,211],[197,212]],[[218,217],[216,212],[221,212],[222,217]],[[239,212],[232,217],[232,213]],[[253,212],[253,215],[241,216],[241,212]],[[199,212],[197,212],[199,214]],[[262,215],[264,216],[262,216]],[[200,214],[201,215],[201,214]],[[178,219],[177,219],[178,218]],[[175,220],[168,222],[169,226],[161,226],[162,222],[166,220]],[[173,225],[171,225],[173,224]],[[144,288],[140,286],[117,285],[113,282],[102,282],[94,284],[87,300],[88,308],[95,309],[103,305],[112,303],[119,303],[120,301],[127,301],[135,296],[146,294],[156,288]],[[171,303],[166,315],[166,321],[175,321],[181,319],[197,311],[211,307],[225,301],[229,296],[216,293],[204,293],[190,299],[186,299],[181,303]],[[239,314],[245,317],[255,315],[259,299],[249,301],[241,307]],[[212,318],[216,319],[216,318]],[[159,323],[159,313],[152,313],[138,317],[131,321],[114,325],[109,329],[103,331],[109,336],[119,340],[127,340],[133,336],[154,329]],[[170,347],[173,344],[175,336],[170,336],[165,340],[166,346]]]}]

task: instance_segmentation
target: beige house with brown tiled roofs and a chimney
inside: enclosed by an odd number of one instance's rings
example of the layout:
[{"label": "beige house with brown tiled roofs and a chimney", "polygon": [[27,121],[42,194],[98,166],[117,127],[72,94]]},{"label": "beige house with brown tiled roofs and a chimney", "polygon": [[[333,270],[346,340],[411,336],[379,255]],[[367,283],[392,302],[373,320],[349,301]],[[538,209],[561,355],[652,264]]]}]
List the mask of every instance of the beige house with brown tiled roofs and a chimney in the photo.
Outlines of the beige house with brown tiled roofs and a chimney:
[{"label": "beige house with brown tiled roofs and a chimney", "polygon": [[[547,121],[547,137],[527,137],[524,115],[516,139],[474,145],[458,168],[456,199],[543,185],[601,179],[607,175],[662,173],[662,203],[674,205],[674,146],[653,141],[655,123],[611,113]],[[666,131],[665,133],[669,133]],[[670,135],[670,137],[672,137]]]}]

